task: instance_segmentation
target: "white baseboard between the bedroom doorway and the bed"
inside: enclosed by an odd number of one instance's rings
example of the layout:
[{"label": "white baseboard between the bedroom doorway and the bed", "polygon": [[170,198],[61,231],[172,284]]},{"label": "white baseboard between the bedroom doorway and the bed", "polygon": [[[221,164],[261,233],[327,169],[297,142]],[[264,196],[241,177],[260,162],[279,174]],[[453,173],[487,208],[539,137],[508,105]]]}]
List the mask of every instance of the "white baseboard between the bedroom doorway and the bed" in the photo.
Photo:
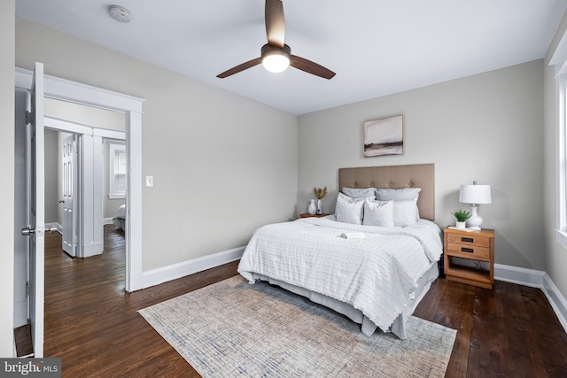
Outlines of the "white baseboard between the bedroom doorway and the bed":
[{"label": "white baseboard between the bedroom doorway and the bed", "polygon": [[192,258],[170,266],[151,269],[143,273],[144,289],[236,261],[238,258],[242,258],[244,251],[245,247],[238,247],[229,251],[214,253],[213,255]]}]

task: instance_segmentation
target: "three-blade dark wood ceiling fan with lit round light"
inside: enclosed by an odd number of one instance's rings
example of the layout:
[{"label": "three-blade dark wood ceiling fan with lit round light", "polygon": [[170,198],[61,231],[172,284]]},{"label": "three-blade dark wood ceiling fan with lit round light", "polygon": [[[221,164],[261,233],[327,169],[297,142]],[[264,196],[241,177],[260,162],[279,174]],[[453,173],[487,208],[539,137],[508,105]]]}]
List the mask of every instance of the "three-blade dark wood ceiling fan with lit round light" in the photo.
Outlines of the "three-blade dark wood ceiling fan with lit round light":
[{"label": "three-blade dark wood ceiling fan with lit round light", "polygon": [[279,73],[284,71],[288,66],[298,68],[306,73],[320,76],[324,79],[331,79],[335,73],[330,69],[307,60],[306,58],[291,55],[290,46],[283,43],[285,35],[285,26],[283,22],[283,4],[281,0],[266,0],[266,35],[268,35],[268,43],[262,46],[260,50],[260,58],[254,58],[241,65],[230,68],[229,70],[219,73],[216,77],[224,79],[235,73],[242,72],[260,63],[270,72]]}]

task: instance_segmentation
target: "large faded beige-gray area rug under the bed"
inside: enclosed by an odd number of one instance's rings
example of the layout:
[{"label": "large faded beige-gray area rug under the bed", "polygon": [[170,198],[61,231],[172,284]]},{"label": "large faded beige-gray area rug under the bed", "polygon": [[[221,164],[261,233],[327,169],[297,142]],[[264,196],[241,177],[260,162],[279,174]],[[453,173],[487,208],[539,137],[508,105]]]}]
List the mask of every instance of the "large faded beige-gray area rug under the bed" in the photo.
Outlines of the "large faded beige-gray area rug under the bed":
[{"label": "large faded beige-gray area rug under the bed", "polygon": [[443,377],[456,331],[411,317],[408,338],[240,276],[139,313],[203,377]]}]

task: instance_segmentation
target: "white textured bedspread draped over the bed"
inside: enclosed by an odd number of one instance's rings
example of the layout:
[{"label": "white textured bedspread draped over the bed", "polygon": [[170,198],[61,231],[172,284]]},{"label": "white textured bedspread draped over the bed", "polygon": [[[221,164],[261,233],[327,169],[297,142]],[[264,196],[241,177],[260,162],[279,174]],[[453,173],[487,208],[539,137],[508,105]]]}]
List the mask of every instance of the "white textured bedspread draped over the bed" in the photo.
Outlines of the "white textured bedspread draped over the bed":
[{"label": "white textured bedspread draped over the bed", "polygon": [[[366,237],[343,238],[345,232]],[[238,266],[310,289],[361,310],[384,332],[408,305],[417,281],[439,260],[439,227],[419,220],[407,228],[378,228],[306,218],[256,230]]]}]

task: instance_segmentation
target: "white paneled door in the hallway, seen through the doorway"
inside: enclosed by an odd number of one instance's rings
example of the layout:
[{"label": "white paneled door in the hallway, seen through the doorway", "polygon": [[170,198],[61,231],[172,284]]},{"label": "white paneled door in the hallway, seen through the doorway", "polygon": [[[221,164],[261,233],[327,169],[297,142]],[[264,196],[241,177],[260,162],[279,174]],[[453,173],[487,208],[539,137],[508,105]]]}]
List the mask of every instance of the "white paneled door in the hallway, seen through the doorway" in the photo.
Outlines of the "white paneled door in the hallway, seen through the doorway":
[{"label": "white paneled door in the hallway, seen through the doorway", "polygon": [[77,254],[76,189],[77,189],[77,137],[69,135],[63,141],[63,251],[70,256]]}]

